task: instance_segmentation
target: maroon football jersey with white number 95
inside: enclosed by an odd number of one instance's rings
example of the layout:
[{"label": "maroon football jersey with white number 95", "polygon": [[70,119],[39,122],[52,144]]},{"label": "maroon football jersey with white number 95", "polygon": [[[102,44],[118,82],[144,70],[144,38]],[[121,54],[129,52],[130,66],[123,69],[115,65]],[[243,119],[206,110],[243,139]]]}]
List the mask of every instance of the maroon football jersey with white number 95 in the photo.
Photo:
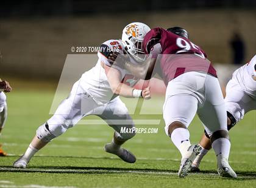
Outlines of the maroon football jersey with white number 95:
[{"label": "maroon football jersey with white number 95", "polygon": [[206,53],[189,39],[157,27],[146,34],[143,41],[144,52],[150,54],[158,43],[162,47],[162,53],[158,56],[160,58],[157,63],[160,62],[166,85],[185,72],[205,72],[217,77],[216,70],[206,59]]}]

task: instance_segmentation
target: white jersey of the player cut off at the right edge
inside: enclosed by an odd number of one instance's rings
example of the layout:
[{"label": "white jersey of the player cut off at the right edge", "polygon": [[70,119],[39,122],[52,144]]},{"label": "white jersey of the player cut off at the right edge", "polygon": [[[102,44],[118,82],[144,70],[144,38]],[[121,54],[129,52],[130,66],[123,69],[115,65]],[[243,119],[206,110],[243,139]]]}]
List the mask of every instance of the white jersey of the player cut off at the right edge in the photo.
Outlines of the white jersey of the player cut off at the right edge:
[{"label": "white jersey of the player cut off at the right edge", "polygon": [[252,76],[256,76],[255,64],[256,55],[251,59],[250,62],[243,65],[239,69],[236,69],[232,77],[232,79],[235,79],[235,81],[240,84],[244,92],[252,96],[254,99],[256,99],[256,81],[252,78]]}]

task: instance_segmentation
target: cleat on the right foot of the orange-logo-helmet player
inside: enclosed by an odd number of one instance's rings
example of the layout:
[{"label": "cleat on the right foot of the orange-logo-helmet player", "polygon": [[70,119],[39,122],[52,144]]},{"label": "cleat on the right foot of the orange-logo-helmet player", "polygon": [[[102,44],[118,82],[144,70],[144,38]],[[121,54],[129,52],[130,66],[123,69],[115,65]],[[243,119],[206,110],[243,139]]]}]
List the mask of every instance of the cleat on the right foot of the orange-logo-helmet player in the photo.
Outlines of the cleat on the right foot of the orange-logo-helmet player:
[{"label": "cleat on the right foot of the orange-logo-helmet player", "polygon": [[124,149],[123,147],[121,147],[118,150],[113,149],[112,143],[105,144],[104,150],[105,152],[112,153],[114,155],[119,156],[119,158],[121,158],[126,163],[135,163],[136,161],[136,157],[131,152]]}]

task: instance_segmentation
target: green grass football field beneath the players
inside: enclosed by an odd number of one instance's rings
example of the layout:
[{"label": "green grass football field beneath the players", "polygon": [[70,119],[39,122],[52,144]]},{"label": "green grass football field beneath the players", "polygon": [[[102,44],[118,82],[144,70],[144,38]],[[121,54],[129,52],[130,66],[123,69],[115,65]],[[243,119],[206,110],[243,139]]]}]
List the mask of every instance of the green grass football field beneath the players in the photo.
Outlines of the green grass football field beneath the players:
[{"label": "green grass football field beneath the players", "polygon": [[[111,127],[79,124],[40,150],[27,169],[13,169],[13,161],[26,150],[37,127],[50,117],[53,97],[53,90],[15,90],[8,95],[9,117],[1,143],[9,156],[0,158],[0,187],[256,187],[255,111],[230,132],[229,161],[238,174],[237,180],[217,175],[212,150],[202,161],[201,173],[180,179],[180,153],[165,135],[163,121],[154,126],[138,125],[158,127],[158,133],[137,134],[124,145],[137,156],[135,164],[124,163],[104,152],[104,144],[112,139]],[[162,102],[152,98],[146,109],[150,113],[151,109],[161,107]],[[134,116],[141,117],[157,118]],[[189,129],[191,142],[197,143],[203,131],[197,118]]]}]

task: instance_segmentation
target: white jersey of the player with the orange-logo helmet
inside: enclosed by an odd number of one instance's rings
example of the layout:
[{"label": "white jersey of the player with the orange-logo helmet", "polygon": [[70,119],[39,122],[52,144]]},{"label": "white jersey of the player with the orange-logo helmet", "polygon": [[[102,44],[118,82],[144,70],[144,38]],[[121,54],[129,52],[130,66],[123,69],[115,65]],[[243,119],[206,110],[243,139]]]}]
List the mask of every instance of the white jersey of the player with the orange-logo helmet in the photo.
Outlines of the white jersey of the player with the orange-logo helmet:
[{"label": "white jersey of the player with the orange-logo helmet", "polygon": [[[101,50],[98,52],[99,59],[97,64],[92,69],[85,72],[80,78],[80,87],[87,91],[98,104],[105,104],[118,96],[112,92],[110,84],[107,80],[107,75],[105,74],[105,70],[101,65],[101,62],[103,62],[105,65],[111,66],[107,55],[109,50],[116,49],[118,49],[120,54],[123,54],[124,45],[122,44],[122,41],[118,39],[105,41],[101,45]],[[132,58],[130,58],[130,61],[137,63]],[[115,66],[114,68],[119,70],[123,78],[121,82],[127,86],[133,87],[138,82],[139,79],[133,76],[127,70],[121,69],[118,66]]]}]

